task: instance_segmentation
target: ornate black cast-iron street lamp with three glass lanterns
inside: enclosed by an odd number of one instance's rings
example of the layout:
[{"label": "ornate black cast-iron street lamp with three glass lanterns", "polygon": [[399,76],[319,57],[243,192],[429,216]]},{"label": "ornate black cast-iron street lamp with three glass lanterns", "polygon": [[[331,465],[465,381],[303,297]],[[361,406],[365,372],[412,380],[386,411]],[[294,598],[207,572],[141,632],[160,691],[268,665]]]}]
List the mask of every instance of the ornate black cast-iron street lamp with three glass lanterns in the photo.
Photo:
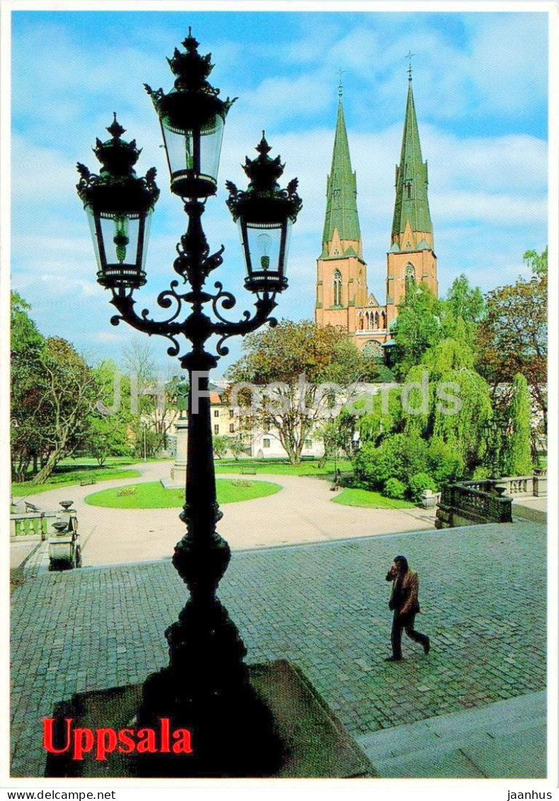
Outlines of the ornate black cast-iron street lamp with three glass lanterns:
[{"label": "ornate black cast-iron street lamp with three glass lanterns", "polygon": [[[119,312],[111,323],[118,325],[125,320],[139,331],[167,337],[171,343],[168,354],[178,356],[182,368],[188,371],[186,503],[180,515],[187,524],[187,533],[175,547],[173,564],[187,584],[190,598],[179,621],[165,633],[169,665],[147,678],[137,725],[156,727],[159,718],[170,718],[171,727],[192,731],[194,753],[167,758],[146,755],[139,759],[138,772],[159,776],[270,775],[279,767],[281,745],[267,706],[248,680],[243,662],[246,649],[239,632],[216,596],[231,550],[215,530],[222,513],[215,494],[208,380],[209,370],[215,367],[219,356],[227,354],[224,343],[230,336],[243,336],[264,323],[276,324],[270,315],[276,305],[276,293],[288,285],[288,231],[301,201],[296,194],[296,180],[287,189],[279,188],[277,179],[283,165],[279,157],[271,159],[267,155],[270,148],[262,139],[257,147],[259,157],[247,159],[244,167],[251,182],[247,190],[238,191],[227,183],[227,204],[242,231],[248,273],[245,286],[257,296],[255,313],[251,316],[244,312],[239,322],[227,320],[222,310],[234,307],[234,296],[224,292],[219,282],[215,283],[217,292],[213,294],[203,288],[209,274],[222,264],[223,246],[210,255],[200,217],[207,196],[215,193],[223,123],[231,101],[219,100],[219,90],[207,83],[211,57],[199,55],[198,42],[190,29],[183,45],[186,52],[175,50],[169,61],[177,75],[175,88],[164,95],[163,90],[147,87],[163,130],[171,191],[183,198],[188,215],[187,232],[177,245],[174,263],[181,280],[173,280],[171,288],[158,298],[160,307],[173,308],[167,320],[152,320],[147,309],[137,314],[132,298],[134,290],[145,281],[145,221],[158,194],[153,182],[155,170],[149,171],[145,179],[135,179],[131,165],[138,151],[134,142],[121,142],[120,127],[118,131],[110,130],[113,139],[109,143],[102,145],[98,140],[95,153],[104,160],[99,177],[78,165],[82,175],[78,194],[94,220],[98,280],[111,289],[111,303]],[[117,152],[119,159],[113,159]],[[119,181],[123,179],[130,192],[121,191]],[[140,183],[132,183],[133,179]],[[135,194],[132,187],[136,187]],[[131,197],[135,198],[134,207]],[[144,235],[135,245],[132,262],[128,248],[131,222],[136,217],[139,227],[143,219]],[[110,220],[109,231],[103,227],[109,226],[103,222],[105,219]],[[127,228],[123,219],[128,220]],[[255,247],[260,247],[258,255]],[[126,248],[126,254],[122,248]],[[180,292],[180,284],[190,284],[190,288]],[[182,316],[185,305],[191,309]],[[205,313],[208,305],[213,320]],[[190,340],[188,352],[180,352],[180,335]],[[215,354],[206,350],[207,340],[213,335],[219,337]]]}]

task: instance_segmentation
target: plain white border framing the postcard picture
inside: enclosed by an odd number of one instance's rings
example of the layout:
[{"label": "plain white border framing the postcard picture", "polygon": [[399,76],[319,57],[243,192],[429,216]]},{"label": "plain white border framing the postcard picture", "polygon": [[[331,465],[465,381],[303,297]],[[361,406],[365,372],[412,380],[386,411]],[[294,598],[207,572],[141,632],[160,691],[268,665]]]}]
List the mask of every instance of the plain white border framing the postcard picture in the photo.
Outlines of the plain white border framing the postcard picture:
[{"label": "plain white border framing the postcard picture", "polygon": [[[173,790],[188,787],[193,790],[210,790],[227,792],[227,795],[240,795],[246,798],[251,791],[261,794],[262,789],[279,791],[282,795],[303,793],[318,789],[340,794],[350,793],[356,798],[370,801],[374,793],[375,801],[398,798],[402,794],[413,792],[419,799],[446,799],[448,790],[452,788],[452,801],[470,801],[473,793],[480,799],[498,798],[508,801],[509,791],[544,792],[557,787],[557,584],[559,583],[557,557],[557,445],[558,445],[558,389],[557,355],[559,354],[559,3],[557,2],[368,2],[368,0],[291,0],[291,2],[275,2],[275,0],[0,0],[0,508],[2,509],[3,531],[8,531],[8,515],[10,506],[10,405],[8,401],[9,386],[9,330],[10,330],[10,29],[11,12],[23,10],[40,11],[72,11],[72,10],[111,10],[111,11],[424,11],[424,12],[505,12],[529,11],[549,15],[549,511],[548,511],[548,779],[211,779],[174,780],[174,779],[86,779],[67,781],[53,779],[10,779],[9,768],[9,715],[0,715],[0,788],[25,787],[52,790],[54,788],[69,791],[72,788],[94,791],[115,789],[115,798],[151,799],[153,788],[159,793],[175,795]],[[40,255],[38,254],[38,258]],[[556,489],[553,489],[556,488]],[[2,545],[2,554],[9,551],[9,542]],[[9,554],[8,554],[9,556]],[[9,558],[5,564],[9,565]],[[537,570],[535,565],[534,569]],[[9,608],[9,582],[6,582],[6,570],[2,572],[2,609]],[[0,636],[4,644],[8,642],[8,616],[0,618]],[[6,653],[6,649],[2,650]],[[6,660],[2,659],[0,667],[0,692],[2,692],[2,710],[9,709],[5,699],[8,698],[9,673]],[[134,788],[134,789],[132,789]],[[6,795],[7,797],[7,795]],[[556,796],[557,797],[557,796]]]}]

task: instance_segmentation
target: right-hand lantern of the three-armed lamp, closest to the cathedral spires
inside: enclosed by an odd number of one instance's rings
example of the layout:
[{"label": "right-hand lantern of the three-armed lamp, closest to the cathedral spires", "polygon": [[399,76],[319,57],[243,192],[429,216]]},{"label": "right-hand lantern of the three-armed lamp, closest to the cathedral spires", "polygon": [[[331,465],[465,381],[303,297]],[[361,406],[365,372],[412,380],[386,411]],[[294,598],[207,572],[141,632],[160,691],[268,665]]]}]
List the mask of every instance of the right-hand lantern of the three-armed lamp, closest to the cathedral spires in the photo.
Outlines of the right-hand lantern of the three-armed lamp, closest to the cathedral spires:
[{"label": "right-hand lantern of the three-armed lamp, closest to the cathedral spires", "polygon": [[271,159],[271,147],[262,139],[255,148],[256,159],[245,159],[243,170],[250,183],[246,191],[239,191],[234,183],[227,182],[227,206],[239,225],[243,256],[247,268],[244,285],[259,296],[282,292],[288,286],[286,267],[289,235],[302,206],[297,195],[297,179],[286,189],[280,189],[277,180],[285,165],[280,157]]}]

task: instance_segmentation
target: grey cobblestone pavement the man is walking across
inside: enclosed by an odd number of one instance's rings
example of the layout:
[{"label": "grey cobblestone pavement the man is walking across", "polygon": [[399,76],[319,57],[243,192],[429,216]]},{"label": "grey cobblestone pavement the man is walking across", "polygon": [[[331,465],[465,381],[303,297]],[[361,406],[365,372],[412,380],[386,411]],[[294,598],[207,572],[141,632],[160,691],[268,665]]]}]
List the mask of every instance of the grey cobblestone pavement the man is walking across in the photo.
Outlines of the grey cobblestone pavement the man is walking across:
[{"label": "grey cobblestone pavement the man is walking across", "polygon": [[[432,650],[404,638],[395,664],[384,662],[384,574],[396,553],[420,574],[417,626]],[[235,553],[219,594],[247,661],[296,662],[362,739],[541,692],[544,563],[545,526],[518,521]],[[13,775],[42,774],[41,718],[55,702],[167,663],[163,631],[186,597],[168,561],[44,574],[14,590]],[[514,748],[501,756],[514,771]],[[436,775],[431,764],[420,770]]]}]

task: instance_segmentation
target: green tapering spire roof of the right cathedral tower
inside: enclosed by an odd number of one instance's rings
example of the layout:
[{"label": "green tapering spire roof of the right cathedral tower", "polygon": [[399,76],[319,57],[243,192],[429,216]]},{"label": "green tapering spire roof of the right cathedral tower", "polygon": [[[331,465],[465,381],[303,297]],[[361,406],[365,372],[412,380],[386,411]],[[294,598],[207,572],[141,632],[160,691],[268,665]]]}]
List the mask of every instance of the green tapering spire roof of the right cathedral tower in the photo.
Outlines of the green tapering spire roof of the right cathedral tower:
[{"label": "green tapering spire roof of the right cathedral tower", "polygon": [[400,166],[396,167],[396,203],[392,220],[392,238],[404,233],[407,222],[412,231],[432,233],[427,184],[427,162],[424,163],[421,158],[419,129],[416,107],[413,103],[412,78],[410,77]]}]

